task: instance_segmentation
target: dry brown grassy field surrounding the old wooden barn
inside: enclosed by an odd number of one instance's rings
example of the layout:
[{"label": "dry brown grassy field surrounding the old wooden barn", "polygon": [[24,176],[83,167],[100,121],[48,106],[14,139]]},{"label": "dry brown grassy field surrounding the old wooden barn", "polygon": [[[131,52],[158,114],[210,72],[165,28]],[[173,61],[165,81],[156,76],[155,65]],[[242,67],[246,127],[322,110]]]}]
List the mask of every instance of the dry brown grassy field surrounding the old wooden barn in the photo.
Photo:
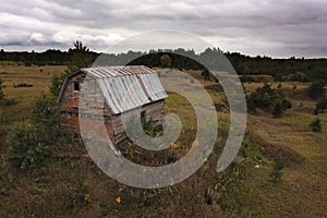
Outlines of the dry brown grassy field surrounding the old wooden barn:
[{"label": "dry brown grassy field surrounding the old wooden barn", "polygon": [[[0,66],[7,98],[16,104],[2,106],[11,118],[9,129],[27,118],[33,98],[48,90],[51,75],[65,66]],[[216,104],[225,95],[214,82],[202,81]],[[33,87],[14,88],[27,83]],[[261,83],[244,84],[247,92]],[[272,86],[277,87],[278,83]],[[296,85],[296,89],[294,89]],[[217,111],[219,134],[208,161],[185,181],[157,190],[133,189],[107,177],[76,142],[51,145],[51,156],[40,169],[24,172],[5,161],[7,133],[0,138],[0,217],[325,217],[327,214],[327,114],[314,116],[315,101],[306,97],[308,84],[282,83],[281,90],[293,107],[281,119],[265,111],[249,116],[246,137],[239,157],[225,172],[216,173],[218,157],[228,135],[229,112]],[[195,134],[194,114],[185,98],[170,94],[166,111],[183,122],[172,149],[181,157]],[[323,132],[310,130],[318,117]],[[272,166],[282,161],[281,180],[271,182]],[[208,189],[219,195],[207,201]],[[121,203],[117,203],[120,197]],[[209,204],[208,204],[209,203]],[[217,206],[218,205],[218,206]]]}]

